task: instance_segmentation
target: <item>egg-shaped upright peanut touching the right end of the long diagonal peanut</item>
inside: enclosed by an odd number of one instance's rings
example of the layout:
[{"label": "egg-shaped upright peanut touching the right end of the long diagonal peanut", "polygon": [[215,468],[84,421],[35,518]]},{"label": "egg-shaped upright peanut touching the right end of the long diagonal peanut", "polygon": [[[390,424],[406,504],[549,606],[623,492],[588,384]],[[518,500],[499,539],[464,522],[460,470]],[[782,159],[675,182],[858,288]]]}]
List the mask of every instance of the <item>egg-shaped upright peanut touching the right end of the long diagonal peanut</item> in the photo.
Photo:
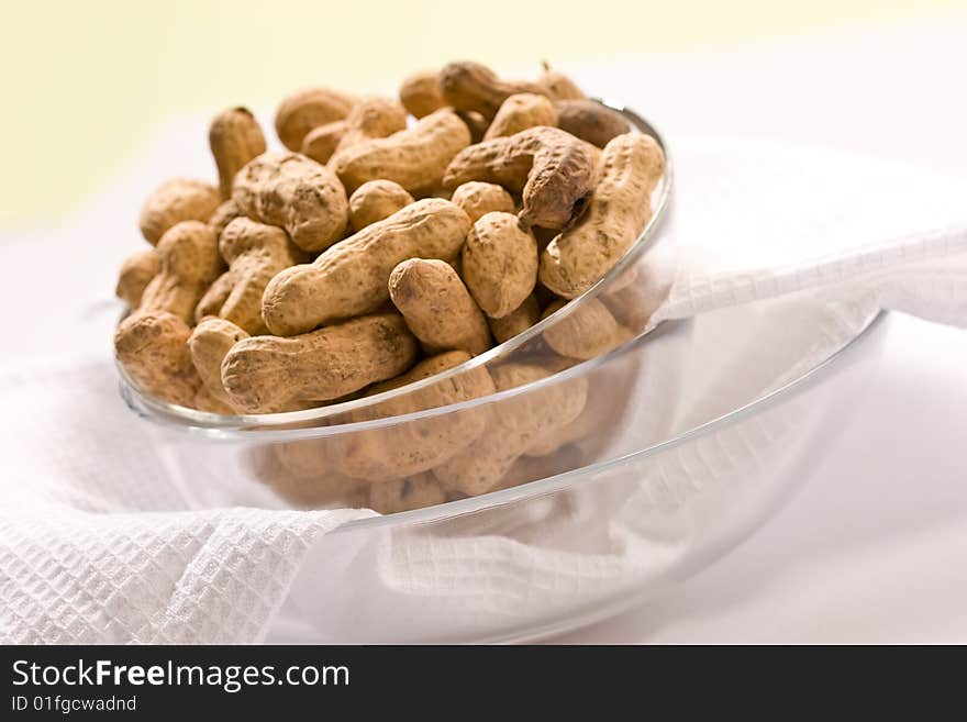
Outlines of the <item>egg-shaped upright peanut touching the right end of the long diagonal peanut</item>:
[{"label": "egg-shaped upright peanut touching the right end of the long diagonal peanut", "polygon": [[491,319],[519,308],[537,280],[537,241],[515,215],[482,215],[467,236],[464,280],[477,304]]}]

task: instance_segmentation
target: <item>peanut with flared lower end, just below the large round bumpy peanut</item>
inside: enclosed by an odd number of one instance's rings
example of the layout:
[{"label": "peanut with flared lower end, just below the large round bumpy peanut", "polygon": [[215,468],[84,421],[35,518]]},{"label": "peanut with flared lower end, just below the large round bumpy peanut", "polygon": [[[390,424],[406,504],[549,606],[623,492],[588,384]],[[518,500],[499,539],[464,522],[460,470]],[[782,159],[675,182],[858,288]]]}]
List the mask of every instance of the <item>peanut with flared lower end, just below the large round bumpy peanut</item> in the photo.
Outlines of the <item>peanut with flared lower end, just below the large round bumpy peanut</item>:
[{"label": "peanut with flared lower end, just below the large round bumpy peanut", "polygon": [[[202,297],[196,309],[200,319],[213,312],[252,335],[268,330],[262,318],[262,296],[268,282],[284,268],[305,260],[304,254],[279,227],[237,218],[225,227],[219,241],[229,270]],[[227,293],[225,291],[227,290]],[[224,300],[218,303],[224,295]]]}]

